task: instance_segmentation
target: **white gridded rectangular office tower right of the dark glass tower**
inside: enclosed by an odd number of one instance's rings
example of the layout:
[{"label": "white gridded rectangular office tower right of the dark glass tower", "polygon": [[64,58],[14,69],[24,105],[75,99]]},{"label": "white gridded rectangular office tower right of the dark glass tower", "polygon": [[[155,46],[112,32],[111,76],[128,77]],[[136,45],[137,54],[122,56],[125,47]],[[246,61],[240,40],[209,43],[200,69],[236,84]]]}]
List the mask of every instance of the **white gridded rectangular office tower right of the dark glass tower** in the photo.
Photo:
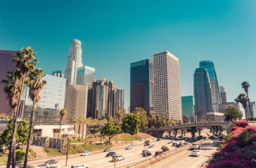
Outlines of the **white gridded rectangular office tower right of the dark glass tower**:
[{"label": "white gridded rectangular office tower right of the dark glass tower", "polygon": [[155,115],[182,120],[179,59],[170,52],[153,54]]}]

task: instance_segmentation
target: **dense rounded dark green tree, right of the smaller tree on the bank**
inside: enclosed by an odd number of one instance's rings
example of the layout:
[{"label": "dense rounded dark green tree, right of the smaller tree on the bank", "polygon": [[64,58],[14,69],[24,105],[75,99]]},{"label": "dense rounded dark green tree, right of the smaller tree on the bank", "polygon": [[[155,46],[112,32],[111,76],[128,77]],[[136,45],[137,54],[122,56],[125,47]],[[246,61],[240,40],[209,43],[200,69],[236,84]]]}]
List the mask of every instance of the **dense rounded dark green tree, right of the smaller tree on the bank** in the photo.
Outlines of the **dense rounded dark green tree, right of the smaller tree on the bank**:
[{"label": "dense rounded dark green tree, right of the smaller tree on the bank", "polygon": [[[139,125],[141,121],[136,113],[129,113],[122,121],[122,132],[128,132],[129,134],[136,134],[139,132]],[[128,125],[128,127],[127,127]]]}]

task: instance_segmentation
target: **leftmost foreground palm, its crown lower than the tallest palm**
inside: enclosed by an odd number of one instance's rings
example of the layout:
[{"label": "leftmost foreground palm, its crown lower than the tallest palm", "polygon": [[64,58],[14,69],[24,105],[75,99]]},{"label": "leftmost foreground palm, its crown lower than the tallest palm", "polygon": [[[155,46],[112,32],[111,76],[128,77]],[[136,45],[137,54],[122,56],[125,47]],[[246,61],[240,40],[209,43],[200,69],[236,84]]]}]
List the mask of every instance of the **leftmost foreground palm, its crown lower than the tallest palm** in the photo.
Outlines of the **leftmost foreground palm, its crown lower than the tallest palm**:
[{"label": "leftmost foreground palm, its crown lower than the tallest palm", "polygon": [[11,136],[11,143],[9,146],[9,153],[8,153],[8,162],[6,167],[11,167],[11,158],[13,158],[13,167],[15,167],[15,142],[16,142],[16,132],[17,132],[17,118],[16,116],[16,109],[18,109],[18,97],[20,97],[20,78],[23,76],[20,70],[15,70],[12,72],[8,72],[7,80],[2,80],[2,83],[6,83],[4,87],[4,92],[7,94],[7,98],[9,99],[9,104],[13,109],[13,134]]}]

